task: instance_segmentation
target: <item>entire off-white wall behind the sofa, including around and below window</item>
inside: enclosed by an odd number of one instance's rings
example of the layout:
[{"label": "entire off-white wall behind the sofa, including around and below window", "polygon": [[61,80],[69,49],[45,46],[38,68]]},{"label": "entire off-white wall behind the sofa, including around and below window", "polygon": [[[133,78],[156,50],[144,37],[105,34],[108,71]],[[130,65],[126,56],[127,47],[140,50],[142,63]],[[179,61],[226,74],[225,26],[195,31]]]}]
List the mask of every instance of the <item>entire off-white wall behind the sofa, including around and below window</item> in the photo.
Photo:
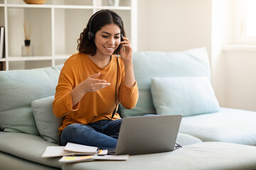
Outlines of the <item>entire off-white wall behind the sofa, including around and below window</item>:
[{"label": "entire off-white wall behind the sofa, including around and below window", "polygon": [[139,0],[138,50],[206,47],[220,106],[256,111],[256,51],[223,51],[238,42],[238,0]]}]

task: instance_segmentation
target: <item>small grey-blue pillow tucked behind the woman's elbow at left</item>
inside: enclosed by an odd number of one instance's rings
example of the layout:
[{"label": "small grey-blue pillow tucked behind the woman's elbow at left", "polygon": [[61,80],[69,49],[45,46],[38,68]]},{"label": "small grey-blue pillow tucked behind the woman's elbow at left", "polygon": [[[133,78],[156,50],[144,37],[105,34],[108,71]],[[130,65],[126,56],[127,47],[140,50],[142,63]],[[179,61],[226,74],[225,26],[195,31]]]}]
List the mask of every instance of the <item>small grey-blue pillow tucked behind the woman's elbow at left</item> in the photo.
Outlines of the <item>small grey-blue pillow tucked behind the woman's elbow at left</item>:
[{"label": "small grey-blue pillow tucked behind the woman's elbow at left", "polygon": [[54,96],[41,98],[31,103],[36,127],[44,140],[59,143],[58,128],[62,125],[63,118],[56,118],[53,114]]}]

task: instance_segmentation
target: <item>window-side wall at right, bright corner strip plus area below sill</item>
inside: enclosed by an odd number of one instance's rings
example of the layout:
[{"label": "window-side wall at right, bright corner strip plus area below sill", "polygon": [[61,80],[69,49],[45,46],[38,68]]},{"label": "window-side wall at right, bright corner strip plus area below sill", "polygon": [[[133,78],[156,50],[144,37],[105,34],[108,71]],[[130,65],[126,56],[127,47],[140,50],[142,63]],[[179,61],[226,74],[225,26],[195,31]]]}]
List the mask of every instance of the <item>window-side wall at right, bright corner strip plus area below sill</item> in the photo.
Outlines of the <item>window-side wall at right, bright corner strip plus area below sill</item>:
[{"label": "window-side wall at right, bright corner strip plus area below sill", "polygon": [[239,2],[213,1],[213,87],[221,106],[256,111],[256,48],[227,48],[239,43]]}]

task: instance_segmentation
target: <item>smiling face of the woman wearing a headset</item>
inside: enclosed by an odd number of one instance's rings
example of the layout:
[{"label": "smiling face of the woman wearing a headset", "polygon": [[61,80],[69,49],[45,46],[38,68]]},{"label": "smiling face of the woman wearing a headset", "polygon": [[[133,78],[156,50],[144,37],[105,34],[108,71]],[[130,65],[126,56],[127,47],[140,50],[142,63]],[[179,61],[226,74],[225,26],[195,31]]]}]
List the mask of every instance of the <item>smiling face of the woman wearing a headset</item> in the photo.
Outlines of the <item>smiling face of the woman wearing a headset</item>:
[{"label": "smiling face of the woman wearing a headset", "polygon": [[96,55],[110,56],[120,44],[120,28],[114,23],[103,26],[95,34]]}]

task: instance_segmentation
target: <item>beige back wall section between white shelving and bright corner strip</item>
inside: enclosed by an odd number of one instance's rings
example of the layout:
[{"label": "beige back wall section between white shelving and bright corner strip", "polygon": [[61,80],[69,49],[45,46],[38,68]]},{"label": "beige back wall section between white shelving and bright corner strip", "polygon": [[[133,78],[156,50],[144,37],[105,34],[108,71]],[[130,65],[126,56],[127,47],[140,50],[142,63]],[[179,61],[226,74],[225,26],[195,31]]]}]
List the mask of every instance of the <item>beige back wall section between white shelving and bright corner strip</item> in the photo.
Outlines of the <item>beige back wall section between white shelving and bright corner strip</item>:
[{"label": "beige back wall section between white shelving and bright corner strip", "polygon": [[138,50],[206,47],[210,52],[210,0],[139,0]]}]

